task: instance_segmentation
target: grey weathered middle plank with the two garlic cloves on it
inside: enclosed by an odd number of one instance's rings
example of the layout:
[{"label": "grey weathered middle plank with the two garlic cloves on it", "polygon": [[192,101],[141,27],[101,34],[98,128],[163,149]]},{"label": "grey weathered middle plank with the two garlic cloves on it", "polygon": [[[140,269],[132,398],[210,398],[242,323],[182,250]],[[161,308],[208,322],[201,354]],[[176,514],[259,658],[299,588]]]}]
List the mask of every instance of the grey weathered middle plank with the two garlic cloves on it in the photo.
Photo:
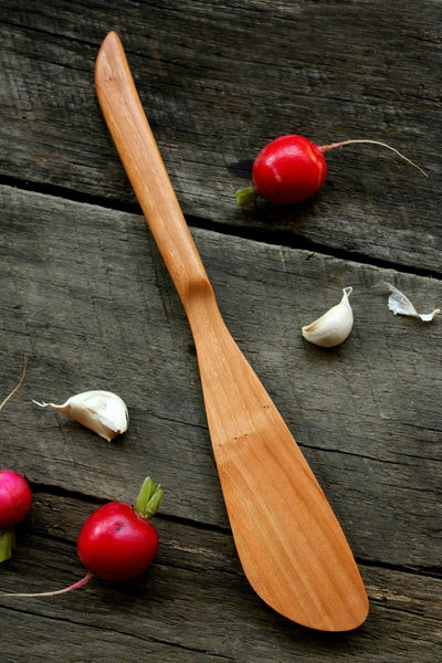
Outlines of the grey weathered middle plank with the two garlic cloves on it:
[{"label": "grey weathered middle plank with the two garlic cloves on it", "polygon": [[[228,527],[197,359],[178,296],[143,217],[1,188],[3,391],[23,352],[25,385],[2,412],[2,465],[35,485],[133,499],[161,481],[165,515]],[[234,338],[318,476],[355,554],[438,566],[440,318],[396,317],[382,280],[419,309],[441,284],[412,274],[211,231],[194,238]],[[336,350],[301,326],[352,285],[356,318]],[[119,393],[130,428],[108,444],[31,399]]]}]

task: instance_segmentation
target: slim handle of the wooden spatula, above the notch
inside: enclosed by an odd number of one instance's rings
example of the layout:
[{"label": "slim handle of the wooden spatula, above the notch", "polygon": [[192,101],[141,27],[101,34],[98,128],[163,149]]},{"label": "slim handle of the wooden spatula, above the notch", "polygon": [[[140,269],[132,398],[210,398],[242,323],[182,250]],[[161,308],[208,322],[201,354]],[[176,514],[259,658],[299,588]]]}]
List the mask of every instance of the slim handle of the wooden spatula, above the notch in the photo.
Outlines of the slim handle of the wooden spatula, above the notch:
[{"label": "slim handle of the wooden spatula, above the notch", "polygon": [[115,32],[106,35],[99,49],[95,86],[126,173],[187,309],[196,290],[211,286]]}]

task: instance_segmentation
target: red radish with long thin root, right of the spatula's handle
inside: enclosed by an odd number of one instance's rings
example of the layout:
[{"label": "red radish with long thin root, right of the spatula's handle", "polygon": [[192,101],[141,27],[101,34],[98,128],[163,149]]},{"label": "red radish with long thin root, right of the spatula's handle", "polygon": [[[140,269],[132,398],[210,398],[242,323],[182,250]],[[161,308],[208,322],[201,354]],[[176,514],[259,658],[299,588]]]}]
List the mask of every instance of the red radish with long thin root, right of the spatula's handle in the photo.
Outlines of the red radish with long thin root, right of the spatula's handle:
[{"label": "red radish with long thin root, right of the spatula's handle", "polygon": [[354,143],[387,147],[425,175],[400,151],[379,140],[343,140],[318,146],[308,138],[294,134],[275,138],[260,151],[252,168],[253,186],[236,191],[236,203],[249,204],[257,194],[275,204],[293,204],[312,198],[327,176],[324,152]]}]

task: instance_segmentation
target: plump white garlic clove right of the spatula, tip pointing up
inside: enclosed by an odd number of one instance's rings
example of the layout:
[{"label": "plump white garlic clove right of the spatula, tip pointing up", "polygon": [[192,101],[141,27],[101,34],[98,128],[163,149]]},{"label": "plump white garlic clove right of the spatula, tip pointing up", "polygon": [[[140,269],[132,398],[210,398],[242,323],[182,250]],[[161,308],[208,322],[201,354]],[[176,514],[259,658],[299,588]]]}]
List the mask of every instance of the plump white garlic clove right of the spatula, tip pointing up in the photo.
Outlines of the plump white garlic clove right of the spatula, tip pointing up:
[{"label": "plump white garlic clove right of the spatula, tip pointing up", "polygon": [[343,290],[339,304],[333,306],[311,325],[302,328],[305,339],[324,348],[332,348],[343,343],[352,329],[354,316],[348,301],[352,287]]}]

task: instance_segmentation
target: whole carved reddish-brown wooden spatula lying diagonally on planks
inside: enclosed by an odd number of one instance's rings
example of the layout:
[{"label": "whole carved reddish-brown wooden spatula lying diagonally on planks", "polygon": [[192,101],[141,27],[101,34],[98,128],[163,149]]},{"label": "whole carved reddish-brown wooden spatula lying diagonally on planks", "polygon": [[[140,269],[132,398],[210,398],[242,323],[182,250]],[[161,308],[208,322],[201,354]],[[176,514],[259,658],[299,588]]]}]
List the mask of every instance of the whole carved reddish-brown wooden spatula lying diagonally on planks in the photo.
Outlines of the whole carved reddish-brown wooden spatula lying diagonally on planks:
[{"label": "whole carved reddish-brown wooden spatula lying diagonally on planks", "polygon": [[347,631],[368,599],[346,537],[281,414],[230,335],[115,32],[95,67],[104,117],[185,306],[234,541],[257,594],[313,629]]}]

